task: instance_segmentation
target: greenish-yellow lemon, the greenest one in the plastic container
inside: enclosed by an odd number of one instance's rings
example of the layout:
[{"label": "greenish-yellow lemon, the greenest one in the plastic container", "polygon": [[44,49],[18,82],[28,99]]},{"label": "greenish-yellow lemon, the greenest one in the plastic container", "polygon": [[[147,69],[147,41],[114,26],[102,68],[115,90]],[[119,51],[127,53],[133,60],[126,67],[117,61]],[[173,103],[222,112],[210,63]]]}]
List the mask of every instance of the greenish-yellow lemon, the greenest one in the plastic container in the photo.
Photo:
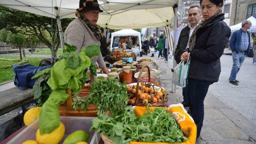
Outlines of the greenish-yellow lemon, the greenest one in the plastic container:
[{"label": "greenish-yellow lemon, the greenest one in the plastic container", "polygon": [[78,142],[87,141],[90,137],[85,131],[78,130],[67,136],[63,144],[74,144]]}]

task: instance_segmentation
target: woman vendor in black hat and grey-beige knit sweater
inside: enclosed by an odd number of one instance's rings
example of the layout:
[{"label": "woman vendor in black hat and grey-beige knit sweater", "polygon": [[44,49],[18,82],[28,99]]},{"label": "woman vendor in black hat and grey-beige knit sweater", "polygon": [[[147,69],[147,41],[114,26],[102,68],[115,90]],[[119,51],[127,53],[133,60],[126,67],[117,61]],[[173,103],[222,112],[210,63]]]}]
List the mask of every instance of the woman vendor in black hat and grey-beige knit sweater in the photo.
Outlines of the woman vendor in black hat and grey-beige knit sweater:
[{"label": "woman vendor in black hat and grey-beige knit sweater", "polygon": [[[77,46],[78,53],[82,47],[93,44],[100,45],[102,32],[97,25],[97,21],[101,12],[103,10],[99,8],[97,0],[80,0],[79,9],[76,12],[77,18],[67,26],[64,41],[69,45]],[[98,63],[99,68],[102,68],[102,72],[109,73],[102,54],[91,57],[91,60],[94,63]]]}]

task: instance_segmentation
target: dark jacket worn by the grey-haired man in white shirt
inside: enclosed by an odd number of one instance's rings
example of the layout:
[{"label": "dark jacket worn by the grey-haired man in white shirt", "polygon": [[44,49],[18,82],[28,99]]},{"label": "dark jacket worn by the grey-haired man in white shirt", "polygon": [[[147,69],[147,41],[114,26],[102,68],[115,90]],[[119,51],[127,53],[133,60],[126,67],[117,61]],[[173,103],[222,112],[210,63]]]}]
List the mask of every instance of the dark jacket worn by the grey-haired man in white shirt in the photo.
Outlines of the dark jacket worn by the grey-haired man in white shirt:
[{"label": "dark jacket worn by the grey-haired man in white shirt", "polygon": [[190,31],[189,26],[186,26],[180,32],[178,44],[174,52],[174,58],[176,60],[176,63],[181,62],[180,56],[186,49],[186,46],[189,42],[189,31]]}]

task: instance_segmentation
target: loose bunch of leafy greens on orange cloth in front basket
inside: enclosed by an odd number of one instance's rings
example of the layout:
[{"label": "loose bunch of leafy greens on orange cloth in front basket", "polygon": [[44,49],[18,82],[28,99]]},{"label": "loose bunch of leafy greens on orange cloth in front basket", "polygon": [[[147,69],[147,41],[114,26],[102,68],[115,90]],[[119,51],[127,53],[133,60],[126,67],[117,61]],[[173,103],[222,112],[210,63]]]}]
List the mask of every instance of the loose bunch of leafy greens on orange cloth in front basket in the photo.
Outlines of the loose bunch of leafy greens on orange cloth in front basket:
[{"label": "loose bunch of leafy greens on orange cloth in front basket", "polygon": [[188,139],[173,114],[162,108],[155,108],[152,112],[136,117],[131,106],[127,106],[115,117],[100,115],[92,122],[90,130],[103,133],[117,144],[130,141],[182,143]]}]

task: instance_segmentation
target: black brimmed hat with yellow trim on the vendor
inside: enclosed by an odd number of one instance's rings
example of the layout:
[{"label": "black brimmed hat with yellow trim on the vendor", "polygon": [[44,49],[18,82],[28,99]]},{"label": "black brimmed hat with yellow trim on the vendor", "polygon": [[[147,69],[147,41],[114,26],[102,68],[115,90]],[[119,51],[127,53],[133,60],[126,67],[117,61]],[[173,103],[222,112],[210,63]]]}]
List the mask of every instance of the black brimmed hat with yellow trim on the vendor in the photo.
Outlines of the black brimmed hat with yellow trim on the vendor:
[{"label": "black brimmed hat with yellow trim on the vendor", "polygon": [[90,10],[99,10],[99,12],[103,12],[99,8],[99,3],[97,0],[80,0],[79,1],[79,8],[77,9],[78,12],[85,12]]}]

